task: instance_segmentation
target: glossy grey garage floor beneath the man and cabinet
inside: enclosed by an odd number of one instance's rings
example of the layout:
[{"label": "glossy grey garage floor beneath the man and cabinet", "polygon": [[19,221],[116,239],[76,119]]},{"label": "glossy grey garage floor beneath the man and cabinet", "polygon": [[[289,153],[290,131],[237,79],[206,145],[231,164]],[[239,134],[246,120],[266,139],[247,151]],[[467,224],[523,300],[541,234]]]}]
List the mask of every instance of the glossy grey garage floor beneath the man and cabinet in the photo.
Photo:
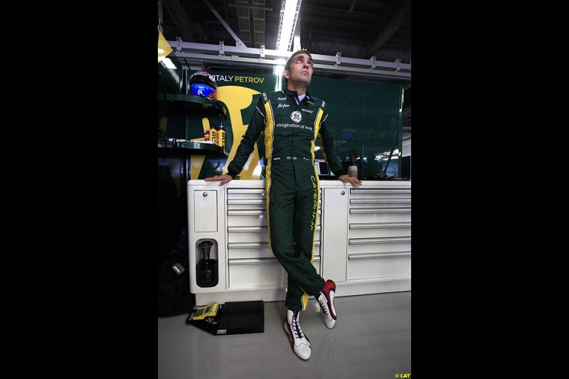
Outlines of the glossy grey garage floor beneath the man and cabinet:
[{"label": "glossy grey garage floor beneath the man and cabinet", "polygon": [[265,302],[263,333],[213,336],[187,314],[159,318],[158,378],[411,378],[411,292],[336,297],[334,329],[310,299],[300,317],[308,361],[290,348],[284,304]]}]

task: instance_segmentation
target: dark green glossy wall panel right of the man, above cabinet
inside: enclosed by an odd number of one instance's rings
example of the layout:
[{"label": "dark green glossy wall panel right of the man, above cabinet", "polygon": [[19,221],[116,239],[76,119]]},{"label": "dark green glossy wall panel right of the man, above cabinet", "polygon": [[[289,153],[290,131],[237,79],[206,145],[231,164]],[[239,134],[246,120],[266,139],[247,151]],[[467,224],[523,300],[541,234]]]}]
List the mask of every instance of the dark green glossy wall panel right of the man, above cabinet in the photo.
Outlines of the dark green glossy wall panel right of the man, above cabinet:
[{"label": "dark green glossy wall panel right of the man, above cabinet", "polygon": [[361,178],[400,175],[401,85],[313,77],[308,91],[328,102],[327,122],[346,166],[354,155]]}]

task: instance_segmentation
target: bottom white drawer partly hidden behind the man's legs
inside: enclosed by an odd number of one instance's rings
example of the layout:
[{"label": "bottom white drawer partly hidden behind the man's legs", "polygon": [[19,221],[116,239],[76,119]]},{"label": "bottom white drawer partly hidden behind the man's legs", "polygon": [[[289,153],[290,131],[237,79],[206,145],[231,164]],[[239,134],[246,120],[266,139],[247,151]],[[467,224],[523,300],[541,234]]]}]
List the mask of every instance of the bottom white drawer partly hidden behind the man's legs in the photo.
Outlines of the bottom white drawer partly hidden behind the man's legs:
[{"label": "bottom white drawer partly hidden behind the man's legs", "polygon": [[[320,259],[314,257],[320,274]],[[287,284],[287,272],[277,258],[229,260],[229,287],[257,287]]]}]

